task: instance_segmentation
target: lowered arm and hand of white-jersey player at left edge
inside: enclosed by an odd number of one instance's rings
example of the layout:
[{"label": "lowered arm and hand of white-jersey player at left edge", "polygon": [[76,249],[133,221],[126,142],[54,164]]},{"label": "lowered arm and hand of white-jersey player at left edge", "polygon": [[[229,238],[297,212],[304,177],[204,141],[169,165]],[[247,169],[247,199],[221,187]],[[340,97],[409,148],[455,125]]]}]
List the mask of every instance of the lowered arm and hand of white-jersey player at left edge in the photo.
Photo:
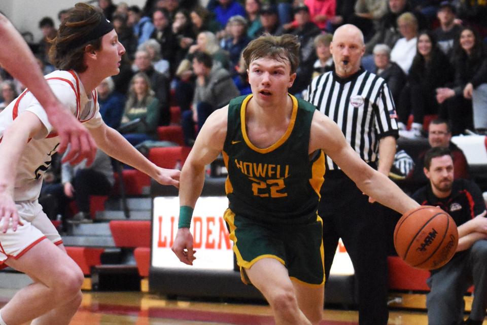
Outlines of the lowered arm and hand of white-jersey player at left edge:
[{"label": "lowered arm and hand of white-jersey player at left edge", "polygon": [[20,114],[12,125],[6,129],[0,142],[0,230],[6,232],[12,219],[12,229],[17,230],[19,216],[14,202],[15,176],[22,152],[28,139],[40,132],[43,124],[39,118],[30,113]]}]

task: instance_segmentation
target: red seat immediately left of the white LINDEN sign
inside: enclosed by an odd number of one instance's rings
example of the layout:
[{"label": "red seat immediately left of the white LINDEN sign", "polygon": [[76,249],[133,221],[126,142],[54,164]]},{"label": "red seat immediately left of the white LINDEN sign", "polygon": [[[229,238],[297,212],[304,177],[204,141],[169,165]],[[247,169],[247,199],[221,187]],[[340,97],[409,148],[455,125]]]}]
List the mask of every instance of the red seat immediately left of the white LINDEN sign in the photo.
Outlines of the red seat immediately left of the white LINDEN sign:
[{"label": "red seat immediately left of the white LINDEN sign", "polygon": [[110,231],[117,247],[135,248],[151,246],[151,222],[112,220]]}]

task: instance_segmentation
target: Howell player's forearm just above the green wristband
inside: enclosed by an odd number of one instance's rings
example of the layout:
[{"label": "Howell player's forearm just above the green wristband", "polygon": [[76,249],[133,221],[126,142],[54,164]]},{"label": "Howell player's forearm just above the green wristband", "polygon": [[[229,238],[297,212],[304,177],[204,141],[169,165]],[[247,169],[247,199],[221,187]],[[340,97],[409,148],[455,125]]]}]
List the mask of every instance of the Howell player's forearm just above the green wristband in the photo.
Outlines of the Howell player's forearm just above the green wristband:
[{"label": "Howell player's forearm just above the green wristband", "polygon": [[179,180],[179,202],[180,206],[194,208],[198,197],[201,195],[204,185],[204,165],[192,164],[187,160],[181,170]]}]

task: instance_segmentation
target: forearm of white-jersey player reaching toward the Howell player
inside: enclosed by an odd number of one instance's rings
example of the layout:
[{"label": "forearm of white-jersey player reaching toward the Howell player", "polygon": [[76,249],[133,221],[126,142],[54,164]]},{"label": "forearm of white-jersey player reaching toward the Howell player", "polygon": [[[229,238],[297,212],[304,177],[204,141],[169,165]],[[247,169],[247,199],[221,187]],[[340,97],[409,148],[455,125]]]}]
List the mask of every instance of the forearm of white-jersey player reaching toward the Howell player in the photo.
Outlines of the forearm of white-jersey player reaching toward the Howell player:
[{"label": "forearm of white-jersey player reaching toward the Howell player", "polygon": [[136,150],[120,133],[106,124],[90,132],[98,148],[107,155],[154,178],[156,165]]}]

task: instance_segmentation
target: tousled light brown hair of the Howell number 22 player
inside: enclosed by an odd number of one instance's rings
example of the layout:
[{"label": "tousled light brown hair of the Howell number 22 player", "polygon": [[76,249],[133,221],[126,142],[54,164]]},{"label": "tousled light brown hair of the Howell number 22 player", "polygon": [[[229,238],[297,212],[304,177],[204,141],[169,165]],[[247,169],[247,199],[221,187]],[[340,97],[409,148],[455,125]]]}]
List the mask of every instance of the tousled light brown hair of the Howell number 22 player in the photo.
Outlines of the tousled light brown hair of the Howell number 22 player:
[{"label": "tousled light brown hair of the Howell number 22 player", "polygon": [[291,74],[294,74],[299,65],[299,46],[299,41],[294,35],[273,36],[266,33],[247,45],[242,52],[243,60],[247,68],[252,61],[261,57],[280,62],[289,61]]}]

